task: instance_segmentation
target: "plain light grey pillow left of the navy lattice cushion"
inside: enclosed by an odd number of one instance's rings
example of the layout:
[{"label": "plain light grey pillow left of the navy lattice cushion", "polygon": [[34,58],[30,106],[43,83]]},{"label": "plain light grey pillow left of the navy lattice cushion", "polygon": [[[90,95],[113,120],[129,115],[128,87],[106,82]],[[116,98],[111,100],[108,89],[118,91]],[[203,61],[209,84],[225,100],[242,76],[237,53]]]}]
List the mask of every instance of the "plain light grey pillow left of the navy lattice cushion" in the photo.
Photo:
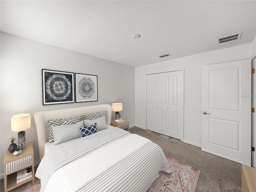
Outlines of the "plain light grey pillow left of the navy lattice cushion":
[{"label": "plain light grey pillow left of the navy lattice cushion", "polygon": [[84,122],[80,121],[74,125],[60,125],[52,127],[54,143],[53,145],[81,137],[80,127],[84,126]]}]

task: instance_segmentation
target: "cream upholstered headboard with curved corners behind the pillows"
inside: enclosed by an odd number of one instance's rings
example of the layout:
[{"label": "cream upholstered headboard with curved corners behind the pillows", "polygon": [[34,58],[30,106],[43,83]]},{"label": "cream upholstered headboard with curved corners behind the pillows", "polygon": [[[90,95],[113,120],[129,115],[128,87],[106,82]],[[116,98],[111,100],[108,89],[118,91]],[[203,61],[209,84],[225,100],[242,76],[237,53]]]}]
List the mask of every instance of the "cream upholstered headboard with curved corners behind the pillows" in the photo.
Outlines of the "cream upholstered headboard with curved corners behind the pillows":
[{"label": "cream upholstered headboard with curved corners behind the pillows", "polygon": [[46,143],[49,139],[49,127],[47,122],[48,120],[65,119],[70,117],[76,117],[86,113],[96,113],[100,111],[107,111],[106,123],[107,125],[110,125],[112,108],[111,108],[111,105],[109,104],[90,105],[90,106],[84,106],[84,107],[72,107],[72,108],[55,109],[55,110],[49,110],[49,111],[38,111],[34,113],[40,159],[42,159],[44,156],[44,143]]}]

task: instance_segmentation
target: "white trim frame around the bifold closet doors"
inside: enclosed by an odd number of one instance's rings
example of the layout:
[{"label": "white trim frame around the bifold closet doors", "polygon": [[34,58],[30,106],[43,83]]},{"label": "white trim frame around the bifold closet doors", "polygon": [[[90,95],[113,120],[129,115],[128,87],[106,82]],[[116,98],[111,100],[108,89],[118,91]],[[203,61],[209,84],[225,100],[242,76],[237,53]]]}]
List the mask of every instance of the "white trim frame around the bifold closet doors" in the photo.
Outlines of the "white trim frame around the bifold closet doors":
[{"label": "white trim frame around the bifold closet doors", "polygon": [[[173,68],[173,69],[162,69],[162,70],[154,70],[154,71],[150,71],[150,72],[147,72],[146,73],[146,83],[147,83],[147,75],[152,75],[152,74],[156,74],[156,73],[167,73],[167,72],[172,72],[172,71],[182,71],[181,75],[181,85],[182,85],[182,88],[181,88],[181,139],[180,141],[184,142],[184,67],[182,68]],[[147,88],[146,88],[147,89]],[[147,93],[147,91],[146,91]],[[147,98],[147,97],[146,97]],[[146,111],[147,111],[147,105],[146,105]],[[146,118],[147,118],[147,115],[146,115]],[[146,119],[146,122],[147,122],[147,119]]]}]

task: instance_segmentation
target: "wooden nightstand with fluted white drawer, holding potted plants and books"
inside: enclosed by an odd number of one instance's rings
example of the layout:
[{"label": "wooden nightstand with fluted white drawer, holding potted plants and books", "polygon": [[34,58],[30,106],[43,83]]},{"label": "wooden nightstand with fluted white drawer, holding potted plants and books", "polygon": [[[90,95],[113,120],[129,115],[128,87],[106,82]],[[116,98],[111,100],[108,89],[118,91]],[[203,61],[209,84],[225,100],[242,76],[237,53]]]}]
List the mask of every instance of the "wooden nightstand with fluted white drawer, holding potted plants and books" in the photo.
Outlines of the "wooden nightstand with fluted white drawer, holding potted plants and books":
[{"label": "wooden nightstand with fluted white drawer, holding potted plants and books", "polygon": [[[17,171],[32,166],[32,178],[17,184]],[[4,191],[10,191],[26,182],[35,182],[34,177],[34,150],[32,143],[26,144],[26,149],[21,154],[15,156],[6,150],[4,157]]]}]

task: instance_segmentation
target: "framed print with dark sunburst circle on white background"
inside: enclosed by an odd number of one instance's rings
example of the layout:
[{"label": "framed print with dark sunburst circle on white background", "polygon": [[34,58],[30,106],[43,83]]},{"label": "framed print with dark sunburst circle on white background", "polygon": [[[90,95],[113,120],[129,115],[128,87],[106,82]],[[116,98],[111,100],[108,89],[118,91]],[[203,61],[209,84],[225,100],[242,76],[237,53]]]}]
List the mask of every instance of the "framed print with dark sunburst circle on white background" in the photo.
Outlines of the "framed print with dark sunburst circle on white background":
[{"label": "framed print with dark sunburst circle on white background", "polygon": [[97,75],[75,73],[76,102],[98,101]]}]

